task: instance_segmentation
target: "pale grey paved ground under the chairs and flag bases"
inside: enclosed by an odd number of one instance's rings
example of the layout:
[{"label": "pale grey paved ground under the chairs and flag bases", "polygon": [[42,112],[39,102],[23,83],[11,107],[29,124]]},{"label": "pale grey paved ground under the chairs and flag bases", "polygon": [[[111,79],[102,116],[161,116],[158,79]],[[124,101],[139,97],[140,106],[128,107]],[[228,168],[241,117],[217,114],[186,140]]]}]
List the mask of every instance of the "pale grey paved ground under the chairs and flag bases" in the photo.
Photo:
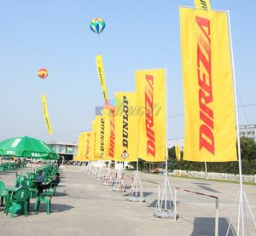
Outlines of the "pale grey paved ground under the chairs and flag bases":
[{"label": "pale grey paved ground under the chairs and flag bases", "polygon": [[[125,183],[131,186],[132,172],[125,172]],[[15,173],[1,173],[6,185],[14,186]],[[0,235],[214,235],[215,201],[191,193],[177,193],[179,219],[171,222],[152,216],[157,199],[158,184],[163,176],[141,174],[144,204],[127,201],[127,193],[117,193],[111,187],[102,186],[94,178],[85,176],[79,167],[61,170],[61,184],[57,196],[52,199],[52,214],[31,212],[29,216],[10,216],[0,208]],[[219,198],[219,235],[225,235],[231,211],[236,201],[237,184],[198,181],[170,177],[172,187],[183,187]],[[256,216],[256,187],[245,186],[254,217]],[[33,208],[32,200],[31,208]],[[236,218],[232,227],[236,228]],[[249,235],[256,235],[247,210]],[[229,235],[236,235],[230,233]]]}]

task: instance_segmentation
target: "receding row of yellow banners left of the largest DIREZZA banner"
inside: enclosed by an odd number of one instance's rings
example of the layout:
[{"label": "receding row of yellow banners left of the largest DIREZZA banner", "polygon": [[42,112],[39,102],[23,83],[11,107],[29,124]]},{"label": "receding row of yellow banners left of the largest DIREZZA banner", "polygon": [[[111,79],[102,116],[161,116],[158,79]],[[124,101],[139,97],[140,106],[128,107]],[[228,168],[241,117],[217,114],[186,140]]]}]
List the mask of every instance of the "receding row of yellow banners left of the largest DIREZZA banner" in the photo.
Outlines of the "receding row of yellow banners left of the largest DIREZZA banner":
[{"label": "receding row of yellow banners left of the largest DIREZZA banner", "polygon": [[135,76],[136,92],[115,93],[115,106],[106,106],[92,131],[79,135],[77,160],[165,160],[166,70],[138,70]]}]

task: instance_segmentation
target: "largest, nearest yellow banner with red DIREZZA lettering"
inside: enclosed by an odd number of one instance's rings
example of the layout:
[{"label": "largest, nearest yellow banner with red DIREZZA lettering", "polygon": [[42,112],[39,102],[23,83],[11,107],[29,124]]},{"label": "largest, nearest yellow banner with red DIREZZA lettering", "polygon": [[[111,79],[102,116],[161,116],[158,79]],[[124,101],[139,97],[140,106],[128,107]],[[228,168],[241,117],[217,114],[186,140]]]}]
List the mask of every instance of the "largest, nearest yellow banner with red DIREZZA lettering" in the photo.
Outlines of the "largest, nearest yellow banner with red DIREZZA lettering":
[{"label": "largest, nearest yellow banner with red DIREZZA lettering", "polygon": [[227,14],[180,8],[184,160],[235,161],[236,124]]}]

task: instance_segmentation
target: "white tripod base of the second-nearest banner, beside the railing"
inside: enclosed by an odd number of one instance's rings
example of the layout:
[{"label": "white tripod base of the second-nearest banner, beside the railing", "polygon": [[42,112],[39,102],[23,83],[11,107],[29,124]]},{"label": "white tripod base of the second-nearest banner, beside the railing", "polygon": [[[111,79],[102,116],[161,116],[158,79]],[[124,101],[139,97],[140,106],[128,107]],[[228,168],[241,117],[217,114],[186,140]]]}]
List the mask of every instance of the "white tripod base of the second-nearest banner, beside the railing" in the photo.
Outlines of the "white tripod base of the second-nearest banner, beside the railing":
[{"label": "white tripod base of the second-nearest banner, beside the railing", "polygon": [[157,218],[172,218],[174,221],[176,221],[177,212],[176,210],[173,209],[174,204],[172,203],[174,203],[173,194],[172,194],[170,181],[168,180],[168,176],[166,172],[164,185],[162,187],[161,199],[160,199],[160,186],[158,188],[158,201],[155,206],[153,216]]}]

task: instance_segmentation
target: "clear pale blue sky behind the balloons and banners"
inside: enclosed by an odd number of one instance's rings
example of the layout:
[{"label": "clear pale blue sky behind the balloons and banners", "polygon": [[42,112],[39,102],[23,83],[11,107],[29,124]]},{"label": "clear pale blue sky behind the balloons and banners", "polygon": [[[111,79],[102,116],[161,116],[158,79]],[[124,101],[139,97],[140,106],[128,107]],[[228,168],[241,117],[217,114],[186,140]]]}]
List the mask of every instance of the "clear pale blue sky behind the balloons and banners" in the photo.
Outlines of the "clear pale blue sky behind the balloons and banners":
[{"label": "clear pale blue sky behind the balloons and banners", "polygon": [[[212,9],[230,10],[238,105],[247,105],[238,108],[240,124],[255,124],[256,2],[211,3]],[[90,130],[95,106],[102,105],[96,54],[103,56],[110,98],[135,90],[135,69],[166,67],[168,137],[183,138],[179,5],[194,1],[0,0],[0,140],[30,135],[77,141],[80,131]],[[100,37],[90,31],[95,17],[107,24]],[[44,81],[37,76],[41,67],[49,70]],[[41,94],[47,96],[53,137]]]}]

